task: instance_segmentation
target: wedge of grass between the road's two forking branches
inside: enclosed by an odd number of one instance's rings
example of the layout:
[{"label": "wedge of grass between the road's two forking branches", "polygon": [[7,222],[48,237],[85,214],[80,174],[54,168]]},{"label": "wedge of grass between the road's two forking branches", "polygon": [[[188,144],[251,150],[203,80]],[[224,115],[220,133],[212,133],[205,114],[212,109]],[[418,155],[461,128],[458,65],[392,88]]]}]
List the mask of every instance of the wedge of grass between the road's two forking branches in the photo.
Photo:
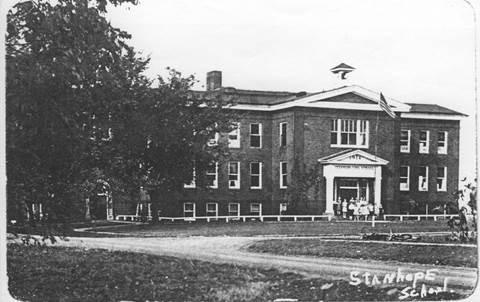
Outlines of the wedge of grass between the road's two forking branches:
[{"label": "wedge of grass between the road's two forking branches", "polygon": [[395,260],[423,264],[477,267],[477,248],[461,246],[420,246],[361,241],[318,239],[274,239],[255,242],[249,251],[280,255]]}]

